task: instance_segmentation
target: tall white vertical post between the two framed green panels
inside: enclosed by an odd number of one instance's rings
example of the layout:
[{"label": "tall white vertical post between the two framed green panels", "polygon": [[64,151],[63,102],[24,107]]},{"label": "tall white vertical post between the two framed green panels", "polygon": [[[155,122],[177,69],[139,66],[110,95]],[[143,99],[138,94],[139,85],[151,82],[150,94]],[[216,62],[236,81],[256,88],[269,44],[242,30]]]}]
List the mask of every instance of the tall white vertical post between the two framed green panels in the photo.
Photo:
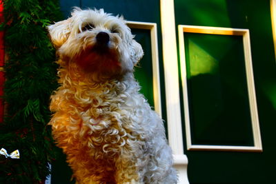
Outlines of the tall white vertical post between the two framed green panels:
[{"label": "tall white vertical post between the two framed green panels", "polygon": [[160,0],[164,78],[166,87],[166,111],[168,141],[172,147],[179,183],[187,184],[188,159],[184,154],[181,123],[179,78],[177,65],[177,37],[175,31],[175,6],[173,0]]}]

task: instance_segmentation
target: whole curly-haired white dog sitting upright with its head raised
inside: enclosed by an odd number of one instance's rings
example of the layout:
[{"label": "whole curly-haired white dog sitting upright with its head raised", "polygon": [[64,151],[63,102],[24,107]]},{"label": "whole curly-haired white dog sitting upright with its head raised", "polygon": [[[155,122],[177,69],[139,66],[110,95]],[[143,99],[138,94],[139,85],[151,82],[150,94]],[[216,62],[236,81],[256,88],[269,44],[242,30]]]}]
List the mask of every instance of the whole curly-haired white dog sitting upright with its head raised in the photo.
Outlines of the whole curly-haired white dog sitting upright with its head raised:
[{"label": "whole curly-haired white dog sitting upright with its head raised", "polygon": [[60,65],[50,125],[77,183],[177,183],[163,122],[133,76],[144,52],[126,21],[75,8],[48,31]]}]

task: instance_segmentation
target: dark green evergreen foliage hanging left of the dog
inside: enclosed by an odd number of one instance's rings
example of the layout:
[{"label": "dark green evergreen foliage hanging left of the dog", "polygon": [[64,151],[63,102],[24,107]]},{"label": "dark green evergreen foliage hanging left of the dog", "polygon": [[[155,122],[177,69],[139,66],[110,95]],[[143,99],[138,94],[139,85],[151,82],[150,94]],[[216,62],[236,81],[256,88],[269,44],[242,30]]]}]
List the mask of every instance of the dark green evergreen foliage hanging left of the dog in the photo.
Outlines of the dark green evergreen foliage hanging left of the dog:
[{"label": "dark green evergreen foliage hanging left of the dog", "polygon": [[3,99],[0,149],[19,150],[20,159],[0,156],[0,183],[41,183],[55,157],[48,110],[50,94],[57,88],[55,49],[46,25],[61,17],[58,0],[3,1],[5,22]]}]

